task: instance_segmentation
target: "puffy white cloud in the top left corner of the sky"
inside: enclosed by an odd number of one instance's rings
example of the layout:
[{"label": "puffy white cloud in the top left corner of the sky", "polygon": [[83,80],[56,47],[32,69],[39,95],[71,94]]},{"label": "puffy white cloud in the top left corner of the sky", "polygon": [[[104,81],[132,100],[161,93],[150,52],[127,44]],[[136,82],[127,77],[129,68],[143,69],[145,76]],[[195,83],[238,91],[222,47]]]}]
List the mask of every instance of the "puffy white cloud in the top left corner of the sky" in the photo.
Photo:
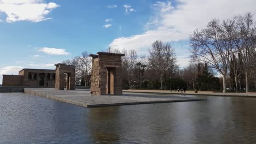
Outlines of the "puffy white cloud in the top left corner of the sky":
[{"label": "puffy white cloud in the top left corner of the sky", "polygon": [[49,20],[52,18],[45,16],[57,7],[60,5],[43,0],[0,0],[0,11],[7,15],[7,22]]}]

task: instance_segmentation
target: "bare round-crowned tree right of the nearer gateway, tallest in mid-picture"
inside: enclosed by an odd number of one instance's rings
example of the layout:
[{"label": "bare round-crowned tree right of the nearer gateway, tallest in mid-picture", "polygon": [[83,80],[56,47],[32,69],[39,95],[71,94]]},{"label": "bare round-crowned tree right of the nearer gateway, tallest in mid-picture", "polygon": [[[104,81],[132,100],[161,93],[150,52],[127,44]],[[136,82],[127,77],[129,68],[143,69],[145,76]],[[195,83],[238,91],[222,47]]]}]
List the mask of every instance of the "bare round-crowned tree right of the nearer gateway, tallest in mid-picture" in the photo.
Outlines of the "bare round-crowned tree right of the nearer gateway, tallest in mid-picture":
[{"label": "bare round-crowned tree right of the nearer gateway, tallest in mid-picture", "polygon": [[159,77],[162,87],[162,80],[168,70],[173,70],[176,65],[176,55],[171,44],[163,44],[161,40],[156,40],[149,50],[148,66]]}]

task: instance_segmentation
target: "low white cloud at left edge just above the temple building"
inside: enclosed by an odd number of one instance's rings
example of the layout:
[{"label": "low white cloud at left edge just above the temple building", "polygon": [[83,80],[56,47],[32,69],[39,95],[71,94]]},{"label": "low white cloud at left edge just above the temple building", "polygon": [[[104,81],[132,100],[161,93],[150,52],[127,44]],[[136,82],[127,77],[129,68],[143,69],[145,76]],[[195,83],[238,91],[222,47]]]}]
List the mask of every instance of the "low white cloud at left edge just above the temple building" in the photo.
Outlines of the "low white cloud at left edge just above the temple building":
[{"label": "low white cloud at left edge just above the temple building", "polygon": [[21,69],[24,69],[24,68],[20,66],[7,66],[0,69],[0,83],[2,83],[3,81],[2,75],[18,75]]}]

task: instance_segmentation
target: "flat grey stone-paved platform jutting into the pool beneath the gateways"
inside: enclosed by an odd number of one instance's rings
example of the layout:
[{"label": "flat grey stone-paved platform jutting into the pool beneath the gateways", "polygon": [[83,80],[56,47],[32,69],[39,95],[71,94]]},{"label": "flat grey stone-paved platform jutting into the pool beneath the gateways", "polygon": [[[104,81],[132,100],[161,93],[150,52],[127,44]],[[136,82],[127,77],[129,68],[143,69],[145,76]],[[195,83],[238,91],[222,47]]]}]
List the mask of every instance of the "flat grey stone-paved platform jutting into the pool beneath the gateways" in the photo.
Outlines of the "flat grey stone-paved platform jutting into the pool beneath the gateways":
[{"label": "flat grey stone-paved platform jutting into the pool beneath the gateways", "polygon": [[172,103],[182,101],[207,100],[204,98],[192,98],[189,96],[160,95],[146,93],[123,93],[123,95],[91,95],[89,89],[77,89],[75,91],[56,91],[54,88],[25,88],[25,93],[50,98],[85,107]]}]

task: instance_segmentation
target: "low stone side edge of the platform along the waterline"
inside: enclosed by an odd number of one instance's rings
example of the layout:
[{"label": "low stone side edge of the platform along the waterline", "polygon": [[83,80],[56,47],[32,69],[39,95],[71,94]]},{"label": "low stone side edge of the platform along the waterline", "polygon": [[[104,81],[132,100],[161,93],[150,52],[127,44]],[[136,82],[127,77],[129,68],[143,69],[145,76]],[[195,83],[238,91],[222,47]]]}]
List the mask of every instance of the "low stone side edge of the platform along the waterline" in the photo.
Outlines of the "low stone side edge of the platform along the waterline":
[{"label": "low stone side edge of the platform along the waterline", "polygon": [[37,91],[33,91],[33,90],[30,90],[30,89],[26,89],[26,88],[24,89],[24,93],[36,95],[36,96],[39,96],[39,97],[49,98],[49,99],[53,99],[53,100],[57,100],[57,101],[62,101],[62,102],[65,102],[65,103],[78,105],[78,106],[83,106],[83,107],[103,107],[103,106],[137,105],[137,104],[174,103],[174,102],[207,100],[207,98],[200,98],[200,99],[182,99],[182,100],[164,100],[164,101],[156,100],[156,101],[138,101],[138,102],[130,102],[130,103],[128,102],[128,103],[92,104],[92,105],[89,104],[89,105],[86,105],[86,104],[83,104],[83,103],[75,103],[72,100],[59,98],[59,97],[56,97],[54,95],[46,94],[46,93],[43,93],[43,92],[37,92]]}]

